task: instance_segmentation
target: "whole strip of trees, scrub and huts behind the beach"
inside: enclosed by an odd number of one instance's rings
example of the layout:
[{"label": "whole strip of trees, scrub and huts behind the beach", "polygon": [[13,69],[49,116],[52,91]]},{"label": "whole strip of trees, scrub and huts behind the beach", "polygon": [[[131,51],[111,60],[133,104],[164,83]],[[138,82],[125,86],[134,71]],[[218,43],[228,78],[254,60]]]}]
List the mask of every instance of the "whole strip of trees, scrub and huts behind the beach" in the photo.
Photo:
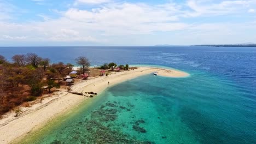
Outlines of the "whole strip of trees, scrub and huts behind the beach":
[{"label": "whole strip of trees, scrub and huts behind the beach", "polygon": [[[25,107],[30,101],[40,98],[43,94],[58,91],[57,88],[70,90],[74,81],[86,80],[89,76],[106,75],[120,70],[128,70],[129,65],[105,63],[98,68],[90,68],[88,58],[80,56],[75,58],[80,68],[71,63],[52,63],[49,58],[42,58],[36,53],[14,55],[13,62],[8,62],[0,55],[0,118],[4,113],[14,110],[16,117],[21,115],[19,105]],[[66,86],[67,85],[67,86]]]}]

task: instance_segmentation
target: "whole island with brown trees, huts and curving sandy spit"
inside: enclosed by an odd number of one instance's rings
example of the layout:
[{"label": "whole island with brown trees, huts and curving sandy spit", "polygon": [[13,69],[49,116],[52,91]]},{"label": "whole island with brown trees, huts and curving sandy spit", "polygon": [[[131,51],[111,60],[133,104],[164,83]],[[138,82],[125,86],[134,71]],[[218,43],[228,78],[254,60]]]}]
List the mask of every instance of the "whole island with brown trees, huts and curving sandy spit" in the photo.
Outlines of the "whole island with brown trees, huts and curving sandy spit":
[{"label": "whole island with brown trees, huts and curving sandy spit", "polygon": [[[25,62],[24,58],[36,61]],[[83,101],[98,97],[104,89],[118,83],[135,79],[142,75],[151,74],[154,76],[154,71],[158,72],[157,76],[189,76],[188,73],[176,69],[129,67],[128,64],[118,66],[116,63],[105,63],[100,67],[88,67],[90,63],[86,57],[78,57],[76,59],[77,64],[80,65],[79,67],[61,62],[50,64],[49,59],[40,58],[36,53],[28,53],[26,56],[15,55],[13,60],[13,63],[8,62],[2,56],[0,64],[2,77],[8,75],[5,72],[19,70],[19,73],[11,73],[13,76],[19,77],[19,79],[13,80],[15,85],[11,85],[13,83],[8,83],[9,79],[6,79],[5,83],[8,84],[8,87],[3,87],[6,89],[4,91],[8,95],[11,93],[10,90],[20,89],[19,91],[22,92],[25,91],[24,88],[26,87],[31,88],[27,88],[27,91],[22,93],[22,97],[26,97],[24,101],[19,101],[20,105],[9,107],[10,109],[6,110],[7,112],[2,115],[2,119],[0,119],[0,143],[19,143],[19,140],[23,137],[44,127],[54,118],[71,112]],[[42,77],[39,79],[38,76],[40,74],[42,74]],[[37,92],[33,89],[35,83],[30,86],[30,83],[27,84],[22,77],[27,77],[26,80],[31,79],[30,81],[36,78],[37,82],[38,80],[42,81],[45,85],[39,85],[42,87],[36,90],[39,92],[44,91],[44,93],[35,93]],[[60,77],[62,78],[60,79]],[[5,79],[3,78],[2,80],[4,81]],[[63,84],[61,85],[61,83]],[[18,99],[13,98],[11,101],[18,101]]]}]

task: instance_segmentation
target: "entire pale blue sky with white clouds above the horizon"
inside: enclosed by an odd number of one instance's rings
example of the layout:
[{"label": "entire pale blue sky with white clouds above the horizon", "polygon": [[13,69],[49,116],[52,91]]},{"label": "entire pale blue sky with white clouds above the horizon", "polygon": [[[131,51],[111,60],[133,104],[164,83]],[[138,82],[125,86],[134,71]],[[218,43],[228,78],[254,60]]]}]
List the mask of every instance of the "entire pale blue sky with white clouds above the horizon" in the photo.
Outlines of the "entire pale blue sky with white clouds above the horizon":
[{"label": "entire pale blue sky with white clouds above the horizon", "polygon": [[0,46],[256,43],[256,0],[0,0]]}]

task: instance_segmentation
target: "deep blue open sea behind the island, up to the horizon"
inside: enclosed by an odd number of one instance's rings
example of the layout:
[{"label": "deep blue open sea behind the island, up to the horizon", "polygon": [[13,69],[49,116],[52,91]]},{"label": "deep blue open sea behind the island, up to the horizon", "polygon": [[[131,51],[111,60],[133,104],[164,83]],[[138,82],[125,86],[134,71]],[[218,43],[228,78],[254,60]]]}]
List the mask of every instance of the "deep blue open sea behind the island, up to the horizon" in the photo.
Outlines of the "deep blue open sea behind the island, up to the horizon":
[{"label": "deep blue open sea behind the island, up to the horizon", "polygon": [[[0,55],[9,61],[15,54],[37,53],[51,62],[73,63],[78,56],[86,56],[91,65],[116,62],[118,64],[161,65],[193,74],[209,73],[220,79],[230,79],[253,98],[256,79],[256,47],[0,47]],[[246,90],[245,90],[246,91]]]}]

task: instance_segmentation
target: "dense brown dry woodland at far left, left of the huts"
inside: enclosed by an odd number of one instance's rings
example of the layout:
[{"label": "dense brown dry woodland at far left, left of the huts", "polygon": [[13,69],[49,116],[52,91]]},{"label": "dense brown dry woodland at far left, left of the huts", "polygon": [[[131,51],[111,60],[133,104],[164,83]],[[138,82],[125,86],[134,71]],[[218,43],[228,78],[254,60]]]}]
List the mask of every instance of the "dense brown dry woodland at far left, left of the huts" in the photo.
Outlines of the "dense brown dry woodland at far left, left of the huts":
[{"label": "dense brown dry woodland at far left, left of the huts", "polygon": [[62,62],[50,64],[49,58],[36,53],[11,58],[13,62],[8,62],[0,55],[0,116],[25,101],[37,99],[44,93],[43,86],[48,86],[49,92],[53,87],[59,88],[60,80],[73,66]]}]

